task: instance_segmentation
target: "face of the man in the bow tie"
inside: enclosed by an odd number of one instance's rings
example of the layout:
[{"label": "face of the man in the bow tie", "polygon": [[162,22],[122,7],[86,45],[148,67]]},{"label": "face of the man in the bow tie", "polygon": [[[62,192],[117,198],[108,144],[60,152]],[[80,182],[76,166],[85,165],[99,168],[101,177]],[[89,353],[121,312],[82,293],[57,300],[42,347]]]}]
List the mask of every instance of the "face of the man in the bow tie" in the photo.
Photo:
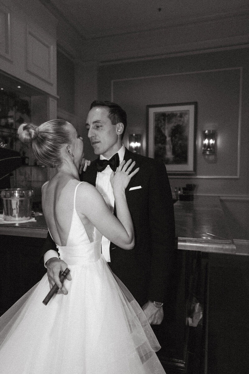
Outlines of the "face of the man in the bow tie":
[{"label": "face of the man in the bow tie", "polygon": [[108,108],[93,107],[88,113],[86,122],[88,138],[94,153],[103,154],[106,158],[115,153],[118,143],[117,126],[112,125],[108,115]]}]

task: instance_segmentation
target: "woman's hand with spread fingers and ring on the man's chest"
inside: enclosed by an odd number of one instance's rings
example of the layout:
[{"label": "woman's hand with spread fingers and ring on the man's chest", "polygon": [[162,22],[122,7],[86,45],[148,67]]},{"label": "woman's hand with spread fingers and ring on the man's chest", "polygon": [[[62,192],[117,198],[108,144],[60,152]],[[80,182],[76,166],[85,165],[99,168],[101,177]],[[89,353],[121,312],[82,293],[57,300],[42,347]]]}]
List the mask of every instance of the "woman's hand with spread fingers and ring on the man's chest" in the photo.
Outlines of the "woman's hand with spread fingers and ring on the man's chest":
[{"label": "woman's hand with spread fingers and ring on the man's chest", "polygon": [[113,193],[115,191],[122,191],[128,186],[131,178],[137,174],[139,168],[133,170],[136,162],[131,159],[127,162],[122,161],[117,168],[116,172],[112,172],[110,182],[112,185]]}]

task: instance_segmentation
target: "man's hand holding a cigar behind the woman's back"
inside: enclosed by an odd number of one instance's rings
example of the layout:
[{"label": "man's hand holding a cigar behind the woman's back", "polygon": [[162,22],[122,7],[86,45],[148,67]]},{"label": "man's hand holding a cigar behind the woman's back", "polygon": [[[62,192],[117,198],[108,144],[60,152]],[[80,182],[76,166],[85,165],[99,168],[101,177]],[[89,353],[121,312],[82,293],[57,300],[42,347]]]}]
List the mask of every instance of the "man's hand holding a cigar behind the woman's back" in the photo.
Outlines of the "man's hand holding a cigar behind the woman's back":
[{"label": "man's hand holding a cigar behind the woman's back", "polygon": [[[66,295],[68,291],[66,290],[65,286],[62,285],[62,283],[60,282],[60,272],[63,272],[68,267],[67,264],[57,257],[52,257],[49,260],[47,260],[46,266],[50,289],[56,283],[59,287],[57,294]],[[67,275],[66,279],[68,279],[68,281],[72,280],[70,273]]]}]

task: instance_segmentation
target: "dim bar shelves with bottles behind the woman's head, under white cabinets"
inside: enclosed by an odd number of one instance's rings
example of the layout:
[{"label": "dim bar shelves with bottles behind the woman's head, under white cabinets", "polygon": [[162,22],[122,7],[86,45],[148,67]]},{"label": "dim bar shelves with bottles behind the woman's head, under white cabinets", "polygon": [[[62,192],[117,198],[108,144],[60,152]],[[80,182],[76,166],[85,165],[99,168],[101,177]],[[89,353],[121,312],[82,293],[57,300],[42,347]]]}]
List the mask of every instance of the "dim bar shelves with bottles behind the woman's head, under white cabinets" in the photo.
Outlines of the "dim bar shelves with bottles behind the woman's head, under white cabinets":
[{"label": "dim bar shelves with bottles behind the woman's head, under white cabinets", "polygon": [[17,130],[21,123],[40,124],[48,120],[47,94],[0,72],[0,142],[18,151],[23,166],[12,172],[12,188],[32,188],[34,200],[41,198],[41,186],[48,179],[47,168],[39,165],[30,145],[19,141]]}]

